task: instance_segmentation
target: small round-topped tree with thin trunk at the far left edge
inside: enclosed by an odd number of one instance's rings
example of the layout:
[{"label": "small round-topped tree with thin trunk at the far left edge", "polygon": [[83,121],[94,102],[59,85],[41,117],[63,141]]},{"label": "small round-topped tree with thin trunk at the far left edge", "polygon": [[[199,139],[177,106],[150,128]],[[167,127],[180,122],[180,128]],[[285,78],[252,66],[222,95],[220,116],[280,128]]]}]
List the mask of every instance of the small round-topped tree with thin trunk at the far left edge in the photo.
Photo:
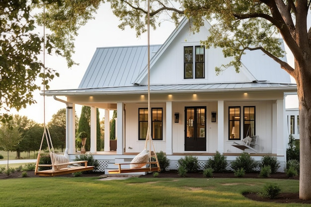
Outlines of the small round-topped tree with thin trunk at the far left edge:
[{"label": "small round-topped tree with thin trunk at the far left edge", "polygon": [[21,140],[22,134],[16,126],[2,125],[0,127],[0,146],[7,151],[7,169],[8,169],[8,152],[13,151],[14,147]]}]

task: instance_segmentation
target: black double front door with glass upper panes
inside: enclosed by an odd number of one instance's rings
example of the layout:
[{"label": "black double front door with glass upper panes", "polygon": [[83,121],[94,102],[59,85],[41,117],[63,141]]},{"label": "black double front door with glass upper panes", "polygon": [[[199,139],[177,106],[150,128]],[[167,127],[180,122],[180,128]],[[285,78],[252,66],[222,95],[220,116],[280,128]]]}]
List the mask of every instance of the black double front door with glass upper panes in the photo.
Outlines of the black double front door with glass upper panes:
[{"label": "black double front door with glass upper panes", "polygon": [[185,151],[206,151],[206,107],[185,107]]}]

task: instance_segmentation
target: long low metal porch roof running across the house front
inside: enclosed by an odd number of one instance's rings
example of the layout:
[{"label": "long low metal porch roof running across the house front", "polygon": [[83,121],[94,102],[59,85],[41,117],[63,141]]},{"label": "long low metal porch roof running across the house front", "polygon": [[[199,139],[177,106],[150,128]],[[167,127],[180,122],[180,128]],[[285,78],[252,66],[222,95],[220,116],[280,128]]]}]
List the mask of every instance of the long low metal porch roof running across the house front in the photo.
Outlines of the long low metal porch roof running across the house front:
[{"label": "long low metal porch roof running across the house front", "polygon": [[[150,93],[191,93],[191,92],[230,92],[230,91],[296,91],[296,84],[287,83],[216,83],[216,84],[182,84],[151,85]],[[121,95],[147,93],[148,85],[132,85],[123,87],[78,88],[65,90],[49,90],[45,94],[52,95]]]}]

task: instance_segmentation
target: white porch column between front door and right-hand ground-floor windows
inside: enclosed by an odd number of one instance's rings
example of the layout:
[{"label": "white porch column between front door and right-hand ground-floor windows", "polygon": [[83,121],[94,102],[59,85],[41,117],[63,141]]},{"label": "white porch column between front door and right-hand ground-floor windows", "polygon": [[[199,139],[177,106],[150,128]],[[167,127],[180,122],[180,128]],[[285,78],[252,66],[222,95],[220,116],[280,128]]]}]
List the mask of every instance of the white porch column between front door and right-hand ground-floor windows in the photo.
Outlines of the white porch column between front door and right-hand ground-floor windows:
[{"label": "white porch column between front door and right-hand ground-floor windows", "polygon": [[[224,137],[224,100],[219,100],[217,102],[218,104],[218,115],[217,115],[217,119],[218,119],[218,145],[217,145],[217,150],[222,154],[224,153],[224,145],[225,145],[225,137]],[[215,151],[216,152],[216,151]]]}]

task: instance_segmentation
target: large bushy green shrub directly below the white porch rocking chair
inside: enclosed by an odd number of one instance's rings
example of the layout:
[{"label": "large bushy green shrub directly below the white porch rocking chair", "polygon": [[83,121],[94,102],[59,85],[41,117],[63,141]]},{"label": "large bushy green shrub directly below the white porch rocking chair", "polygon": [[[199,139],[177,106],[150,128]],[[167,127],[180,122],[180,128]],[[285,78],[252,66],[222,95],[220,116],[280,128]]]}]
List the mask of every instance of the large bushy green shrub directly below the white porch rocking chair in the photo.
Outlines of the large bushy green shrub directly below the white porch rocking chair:
[{"label": "large bushy green shrub directly below the white porch rocking chair", "polygon": [[258,164],[253,158],[246,152],[243,152],[240,156],[236,157],[235,160],[231,162],[231,167],[233,170],[238,170],[243,168],[246,173],[253,172]]}]

